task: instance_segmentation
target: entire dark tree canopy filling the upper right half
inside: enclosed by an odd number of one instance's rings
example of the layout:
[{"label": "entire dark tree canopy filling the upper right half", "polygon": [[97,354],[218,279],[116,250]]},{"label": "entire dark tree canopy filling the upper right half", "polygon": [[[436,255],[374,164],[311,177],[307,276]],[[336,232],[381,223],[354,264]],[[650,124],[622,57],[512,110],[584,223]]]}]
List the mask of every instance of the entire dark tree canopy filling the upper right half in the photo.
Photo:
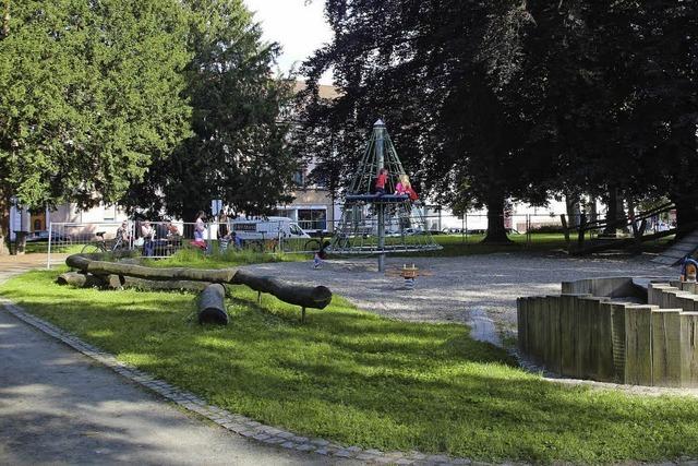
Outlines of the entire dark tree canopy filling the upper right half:
[{"label": "entire dark tree canopy filling the upper right half", "polygon": [[[383,117],[432,199],[456,212],[486,205],[495,240],[506,198],[693,191],[697,11],[660,0],[327,0],[335,37],[305,63],[305,133],[330,134],[350,166]],[[341,97],[328,103],[314,91],[329,68]],[[318,165],[326,177],[348,171],[329,167]]]}]

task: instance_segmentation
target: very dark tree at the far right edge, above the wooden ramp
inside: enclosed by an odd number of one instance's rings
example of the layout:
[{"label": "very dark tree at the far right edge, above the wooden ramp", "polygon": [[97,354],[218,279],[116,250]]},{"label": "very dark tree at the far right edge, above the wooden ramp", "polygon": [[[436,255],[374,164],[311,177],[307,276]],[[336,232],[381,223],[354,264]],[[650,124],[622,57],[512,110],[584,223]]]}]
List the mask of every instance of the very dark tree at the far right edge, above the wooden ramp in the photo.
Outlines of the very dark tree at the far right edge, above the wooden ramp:
[{"label": "very dark tree at the far right edge, above the wooden ramp", "polygon": [[525,44],[524,74],[546,76],[537,127],[546,129],[540,146],[559,160],[554,189],[603,196],[611,220],[622,219],[623,198],[671,193],[683,204],[679,217],[691,212],[697,10],[667,1],[531,3],[538,26]]}]

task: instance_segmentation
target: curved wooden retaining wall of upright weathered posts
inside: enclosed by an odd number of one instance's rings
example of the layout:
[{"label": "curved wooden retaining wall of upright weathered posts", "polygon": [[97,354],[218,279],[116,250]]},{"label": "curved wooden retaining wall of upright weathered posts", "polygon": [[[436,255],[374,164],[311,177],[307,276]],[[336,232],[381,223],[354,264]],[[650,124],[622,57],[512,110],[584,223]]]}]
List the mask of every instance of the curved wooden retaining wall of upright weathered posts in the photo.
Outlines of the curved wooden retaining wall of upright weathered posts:
[{"label": "curved wooden retaining wall of upright weathered posts", "polygon": [[626,285],[588,280],[563,285],[561,296],[519,298],[519,350],[562,375],[698,387],[696,285],[650,284],[647,304],[590,292],[614,295]]}]

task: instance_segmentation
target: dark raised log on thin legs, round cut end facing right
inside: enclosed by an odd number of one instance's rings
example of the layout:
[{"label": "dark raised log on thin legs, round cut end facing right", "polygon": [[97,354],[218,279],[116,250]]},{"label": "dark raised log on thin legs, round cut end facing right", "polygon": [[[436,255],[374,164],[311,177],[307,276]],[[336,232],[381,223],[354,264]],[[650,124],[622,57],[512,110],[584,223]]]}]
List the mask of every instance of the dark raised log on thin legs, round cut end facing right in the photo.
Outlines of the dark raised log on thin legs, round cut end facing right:
[{"label": "dark raised log on thin legs, round cut end facing right", "polygon": [[255,291],[268,292],[281,301],[302,308],[324,309],[332,301],[332,291],[325,286],[299,286],[274,277],[254,275],[248,271],[238,271],[233,285],[246,285]]}]

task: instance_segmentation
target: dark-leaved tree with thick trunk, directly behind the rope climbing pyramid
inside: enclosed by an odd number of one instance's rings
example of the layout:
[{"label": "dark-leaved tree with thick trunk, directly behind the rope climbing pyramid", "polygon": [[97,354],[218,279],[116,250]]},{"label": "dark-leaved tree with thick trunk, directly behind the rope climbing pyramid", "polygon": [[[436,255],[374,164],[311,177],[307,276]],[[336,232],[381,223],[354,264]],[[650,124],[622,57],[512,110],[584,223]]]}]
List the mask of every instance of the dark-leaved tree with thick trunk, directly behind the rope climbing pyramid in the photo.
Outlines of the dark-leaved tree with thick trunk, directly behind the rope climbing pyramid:
[{"label": "dark-leaved tree with thick trunk, directly behind the rope climbing pyramid", "polygon": [[[378,117],[405,165],[436,201],[456,212],[486,205],[486,241],[506,241],[507,198],[544,199],[551,164],[524,153],[533,113],[522,112],[521,39],[532,26],[519,2],[328,0],[335,38],[304,65],[309,89],[333,67],[341,96],[329,110],[308,99],[308,126],[340,141]],[[356,154],[360,154],[357,151]],[[354,155],[350,160],[356,160]]]}]

